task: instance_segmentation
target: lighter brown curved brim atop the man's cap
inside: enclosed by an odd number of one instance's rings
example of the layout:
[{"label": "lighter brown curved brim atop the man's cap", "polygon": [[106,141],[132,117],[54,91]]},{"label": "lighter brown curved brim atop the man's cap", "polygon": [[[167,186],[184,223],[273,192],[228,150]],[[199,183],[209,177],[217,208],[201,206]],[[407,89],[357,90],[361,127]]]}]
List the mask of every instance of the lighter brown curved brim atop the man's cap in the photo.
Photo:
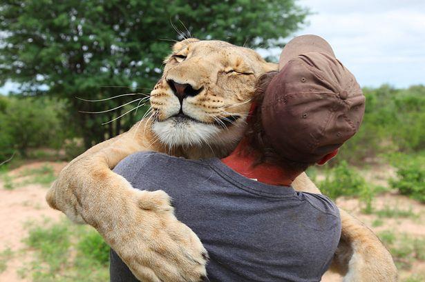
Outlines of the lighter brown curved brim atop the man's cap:
[{"label": "lighter brown curved brim atop the man's cap", "polygon": [[301,35],[289,41],[283,48],[279,58],[279,70],[282,70],[288,61],[308,52],[322,52],[335,57],[334,50],[325,39],[313,34]]}]

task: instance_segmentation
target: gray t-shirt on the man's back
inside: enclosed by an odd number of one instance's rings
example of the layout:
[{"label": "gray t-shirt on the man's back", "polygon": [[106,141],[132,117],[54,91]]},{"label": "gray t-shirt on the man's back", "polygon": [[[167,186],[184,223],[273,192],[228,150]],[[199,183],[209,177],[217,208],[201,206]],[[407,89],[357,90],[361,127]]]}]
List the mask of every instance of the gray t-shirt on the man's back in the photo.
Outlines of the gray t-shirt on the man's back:
[{"label": "gray t-shirt on the man's back", "polygon": [[[209,253],[209,281],[320,281],[339,242],[338,208],[321,194],[247,179],[220,159],[138,152],[114,170],[140,190],[164,190]],[[111,281],[137,281],[111,251]]]}]

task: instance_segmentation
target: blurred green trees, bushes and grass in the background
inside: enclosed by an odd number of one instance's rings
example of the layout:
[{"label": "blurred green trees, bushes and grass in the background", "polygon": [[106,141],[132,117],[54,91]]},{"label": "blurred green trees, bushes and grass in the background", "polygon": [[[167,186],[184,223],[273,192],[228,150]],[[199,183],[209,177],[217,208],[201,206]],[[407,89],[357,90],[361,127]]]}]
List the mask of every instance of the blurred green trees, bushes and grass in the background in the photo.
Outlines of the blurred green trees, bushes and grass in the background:
[{"label": "blurred green trees, bushes and grass in the background", "polygon": [[[308,14],[292,0],[2,1],[0,85],[13,81],[19,88],[0,93],[0,183],[8,191],[28,183],[48,186],[57,173],[48,161],[70,161],[128,130],[147,110],[141,105],[135,113],[140,100],[129,102],[149,94],[174,41],[192,36],[254,49],[282,47]],[[374,227],[383,218],[417,220],[415,211],[377,207],[374,200],[390,191],[425,203],[425,86],[381,85],[363,92],[366,115],[357,135],[329,165],[308,173],[332,199],[357,199],[362,214],[375,216]],[[84,101],[122,94],[132,95]],[[112,108],[117,109],[84,113]],[[12,173],[35,161],[46,163]],[[383,185],[365,177],[387,168],[390,177]],[[21,177],[26,179],[19,182]],[[391,232],[380,236],[400,268],[425,260],[424,239],[396,238]],[[107,279],[108,248],[91,229],[62,221],[32,224],[24,242],[35,260],[19,270],[21,276],[30,274],[33,281]],[[0,250],[0,274],[16,253]]]}]

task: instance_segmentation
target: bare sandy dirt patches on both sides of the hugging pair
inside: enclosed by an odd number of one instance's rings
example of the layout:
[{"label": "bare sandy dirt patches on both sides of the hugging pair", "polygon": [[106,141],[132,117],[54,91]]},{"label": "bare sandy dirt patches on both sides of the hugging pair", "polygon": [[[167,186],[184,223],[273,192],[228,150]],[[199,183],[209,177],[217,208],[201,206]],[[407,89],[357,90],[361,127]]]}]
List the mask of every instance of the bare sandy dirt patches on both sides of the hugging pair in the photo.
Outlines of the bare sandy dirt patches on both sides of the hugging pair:
[{"label": "bare sandy dirt patches on both sides of the hugging pair", "polygon": [[[57,174],[66,163],[38,162],[23,165],[17,170],[12,170],[9,175],[15,177],[16,181],[25,179],[23,175],[28,169],[40,168],[42,165],[50,165]],[[370,175],[366,175],[368,181],[377,181],[379,184],[385,184],[388,175],[394,172],[390,168],[381,168],[375,170]],[[10,248],[13,252],[18,252],[23,248],[22,239],[25,238],[27,231],[25,223],[27,221],[41,220],[44,217],[58,220],[62,213],[52,210],[48,207],[44,200],[47,188],[38,184],[19,185],[14,190],[4,189],[4,183],[0,179],[0,252],[6,248]],[[375,198],[373,206],[375,210],[381,208],[402,208],[411,209],[415,218],[385,218],[380,226],[372,227],[372,223],[378,219],[377,214],[363,214],[360,211],[357,199],[338,199],[337,204],[366,223],[374,232],[391,230],[396,234],[408,234],[417,238],[425,239],[425,205],[417,203],[411,199],[400,196],[395,192],[387,192]],[[17,256],[8,261],[7,268],[0,273],[0,281],[17,282],[28,281],[21,279],[17,271],[26,261],[31,258],[31,252],[18,252]],[[400,272],[402,279],[411,274],[421,274],[425,276],[425,262],[414,261],[410,270],[402,270]],[[325,282],[342,281],[341,277],[336,274],[326,274],[323,276]]]}]

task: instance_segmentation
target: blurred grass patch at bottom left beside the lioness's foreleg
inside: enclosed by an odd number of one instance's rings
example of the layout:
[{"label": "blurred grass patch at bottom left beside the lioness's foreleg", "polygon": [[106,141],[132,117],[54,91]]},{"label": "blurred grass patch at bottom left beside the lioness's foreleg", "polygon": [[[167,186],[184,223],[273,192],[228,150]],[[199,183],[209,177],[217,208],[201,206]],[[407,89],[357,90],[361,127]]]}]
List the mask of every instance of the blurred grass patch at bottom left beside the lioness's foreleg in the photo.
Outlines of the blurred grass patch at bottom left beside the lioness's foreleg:
[{"label": "blurred grass patch at bottom left beside the lioness's foreleg", "polygon": [[66,220],[28,228],[24,242],[35,257],[21,275],[33,282],[108,281],[109,247],[93,228]]}]

